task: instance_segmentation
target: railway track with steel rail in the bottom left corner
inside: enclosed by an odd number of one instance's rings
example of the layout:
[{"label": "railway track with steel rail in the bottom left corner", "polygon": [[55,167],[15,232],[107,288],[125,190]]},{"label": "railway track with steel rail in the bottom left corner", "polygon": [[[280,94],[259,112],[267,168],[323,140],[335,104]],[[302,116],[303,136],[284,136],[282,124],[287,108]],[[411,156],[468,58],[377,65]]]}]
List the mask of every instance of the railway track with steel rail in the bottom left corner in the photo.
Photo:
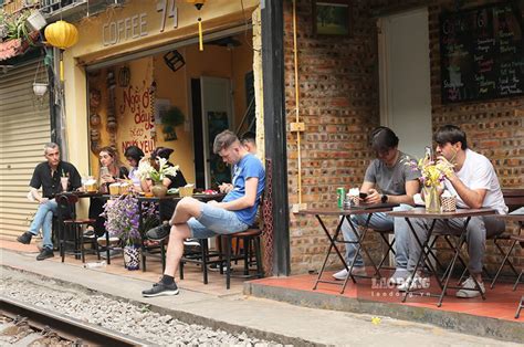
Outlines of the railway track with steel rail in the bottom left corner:
[{"label": "railway track with steel rail in the bottom left corner", "polygon": [[[60,346],[147,346],[147,341],[124,336],[99,326],[87,324],[61,314],[49,313],[39,307],[0,296],[0,316],[4,328],[0,335],[21,338],[31,335],[34,343],[46,338]],[[31,339],[31,337],[28,337]],[[15,341],[18,344],[20,341]],[[31,341],[24,340],[24,345]]]}]

